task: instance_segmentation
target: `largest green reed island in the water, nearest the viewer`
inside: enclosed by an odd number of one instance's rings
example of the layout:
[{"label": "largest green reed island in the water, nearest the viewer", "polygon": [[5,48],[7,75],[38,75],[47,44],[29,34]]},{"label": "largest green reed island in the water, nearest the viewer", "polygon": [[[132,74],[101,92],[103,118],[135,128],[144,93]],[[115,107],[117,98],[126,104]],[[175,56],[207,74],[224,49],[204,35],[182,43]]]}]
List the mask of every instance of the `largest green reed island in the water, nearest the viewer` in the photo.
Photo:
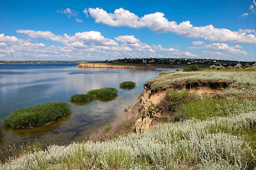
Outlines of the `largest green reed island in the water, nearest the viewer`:
[{"label": "largest green reed island in the water, nearest the viewer", "polygon": [[70,113],[71,106],[68,103],[46,103],[15,110],[9,117],[3,119],[3,124],[12,128],[42,126],[47,123],[56,122],[61,117]]}]

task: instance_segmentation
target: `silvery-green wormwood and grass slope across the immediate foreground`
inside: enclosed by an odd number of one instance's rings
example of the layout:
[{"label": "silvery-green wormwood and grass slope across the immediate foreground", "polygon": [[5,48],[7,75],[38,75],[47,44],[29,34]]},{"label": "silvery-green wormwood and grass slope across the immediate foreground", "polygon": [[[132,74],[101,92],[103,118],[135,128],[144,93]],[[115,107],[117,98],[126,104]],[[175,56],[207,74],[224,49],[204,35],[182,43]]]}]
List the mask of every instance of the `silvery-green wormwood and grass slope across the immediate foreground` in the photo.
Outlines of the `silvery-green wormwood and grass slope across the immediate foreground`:
[{"label": "silvery-green wormwood and grass slope across the immediate foreground", "polygon": [[[255,131],[255,112],[235,117],[167,123],[143,134],[108,142],[52,145],[47,151],[21,156],[2,169],[252,169],[250,140],[237,137]],[[224,133],[223,130],[226,132]],[[234,134],[234,135],[232,135]]]}]

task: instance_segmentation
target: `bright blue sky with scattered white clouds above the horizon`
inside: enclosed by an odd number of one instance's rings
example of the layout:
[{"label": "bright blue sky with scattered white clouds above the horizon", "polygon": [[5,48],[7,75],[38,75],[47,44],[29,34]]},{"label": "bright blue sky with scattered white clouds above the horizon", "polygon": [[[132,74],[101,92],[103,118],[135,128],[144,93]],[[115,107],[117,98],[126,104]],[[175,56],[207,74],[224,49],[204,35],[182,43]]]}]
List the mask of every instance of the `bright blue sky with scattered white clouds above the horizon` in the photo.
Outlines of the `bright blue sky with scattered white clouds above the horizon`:
[{"label": "bright blue sky with scattered white clouds above the horizon", "polygon": [[1,0],[0,21],[0,60],[256,60],[255,0]]}]

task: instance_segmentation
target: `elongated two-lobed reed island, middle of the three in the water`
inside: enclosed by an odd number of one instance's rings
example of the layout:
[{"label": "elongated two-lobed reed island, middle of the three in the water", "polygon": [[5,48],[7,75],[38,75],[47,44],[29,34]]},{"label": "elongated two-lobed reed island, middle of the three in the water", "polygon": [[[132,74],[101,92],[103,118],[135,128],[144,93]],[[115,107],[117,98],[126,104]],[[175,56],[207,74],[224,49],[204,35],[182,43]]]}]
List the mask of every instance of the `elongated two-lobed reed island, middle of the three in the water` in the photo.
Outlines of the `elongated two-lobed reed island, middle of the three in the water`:
[{"label": "elongated two-lobed reed island, middle of the three in the water", "polygon": [[87,102],[97,98],[109,98],[117,95],[117,90],[115,88],[101,88],[90,90],[86,94],[77,94],[70,97],[72,102]]}]

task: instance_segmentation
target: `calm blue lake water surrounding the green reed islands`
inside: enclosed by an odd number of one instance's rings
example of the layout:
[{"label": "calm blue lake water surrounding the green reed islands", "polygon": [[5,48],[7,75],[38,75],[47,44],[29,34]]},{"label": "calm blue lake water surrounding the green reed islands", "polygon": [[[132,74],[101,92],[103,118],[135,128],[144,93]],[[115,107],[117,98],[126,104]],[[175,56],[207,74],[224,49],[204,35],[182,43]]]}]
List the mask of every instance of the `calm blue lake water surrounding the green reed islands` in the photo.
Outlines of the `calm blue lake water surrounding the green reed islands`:
[{"label": "calm blue lake water surrounding the green reed islands", "polygon": [[[0,64],[0,118],[13,110],[49,102],[67,102],[72,114],[42,127],[4,128],[0,148],[13,143],[43,145],[84,141],[92,131],[111,124],[143,92],[143,84],[161,69],[77,68],[77,64]],[[168,69],[173,70],[173,69]],[[119,83],[135,81],[134,89],[120,89]],[[114,87],[118,97],[91,103],[71,103],[69,97],[92,89]]]}]

